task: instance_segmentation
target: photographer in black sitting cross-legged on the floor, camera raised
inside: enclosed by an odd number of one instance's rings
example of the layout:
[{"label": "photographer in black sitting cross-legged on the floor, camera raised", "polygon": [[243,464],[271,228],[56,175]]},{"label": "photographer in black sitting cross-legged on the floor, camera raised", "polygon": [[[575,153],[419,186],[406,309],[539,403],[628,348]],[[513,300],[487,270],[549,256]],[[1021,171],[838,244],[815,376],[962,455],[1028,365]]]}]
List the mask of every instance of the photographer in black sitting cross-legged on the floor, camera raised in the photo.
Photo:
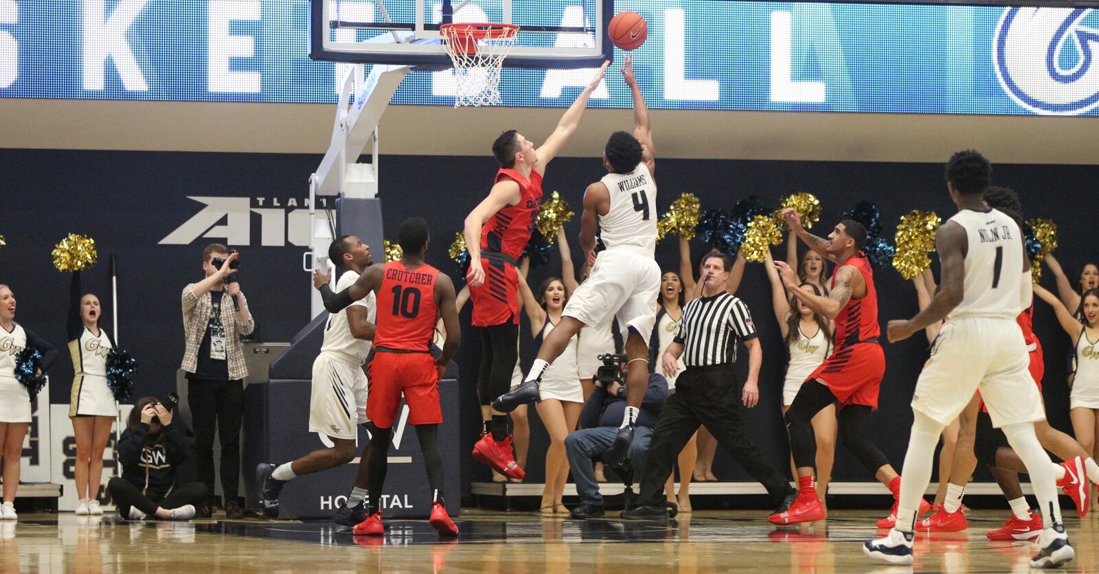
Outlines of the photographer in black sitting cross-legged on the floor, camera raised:
[{"label": "photographer in black sitting cross-legged on the floor, camera raised", "polygon": [[122,518],[189,520],[210,496],[202,483],[176,485],[176,467],[191,449],[182,428],[171,423],[173,406],[145,397],[130,412],[118,444],[122,477],[107,484]]}]

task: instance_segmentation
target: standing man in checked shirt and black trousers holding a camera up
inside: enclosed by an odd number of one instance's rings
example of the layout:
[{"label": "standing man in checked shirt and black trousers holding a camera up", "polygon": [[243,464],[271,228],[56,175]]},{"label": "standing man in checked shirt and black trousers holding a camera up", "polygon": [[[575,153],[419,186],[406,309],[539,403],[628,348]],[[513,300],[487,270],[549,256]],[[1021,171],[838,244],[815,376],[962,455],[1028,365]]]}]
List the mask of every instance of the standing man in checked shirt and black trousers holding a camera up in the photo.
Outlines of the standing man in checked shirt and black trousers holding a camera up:
[{"label": "standing man in checked shirt and black trousers holding a camera up", "polygon": [[[199,481],[213,495],[213,434],[221,438],[221,488],[225,515],[244,518],[237,499],[241,474],[241,419],[244,416],[244,364],[241,335],[256,328],[241,286],[232,278],[237,253],[220,243],[202,250],[206,278],[184,287],[182,369],[189,382],[187,404],[195,430]],[[227,296],[227,297],[226,297]]]}]

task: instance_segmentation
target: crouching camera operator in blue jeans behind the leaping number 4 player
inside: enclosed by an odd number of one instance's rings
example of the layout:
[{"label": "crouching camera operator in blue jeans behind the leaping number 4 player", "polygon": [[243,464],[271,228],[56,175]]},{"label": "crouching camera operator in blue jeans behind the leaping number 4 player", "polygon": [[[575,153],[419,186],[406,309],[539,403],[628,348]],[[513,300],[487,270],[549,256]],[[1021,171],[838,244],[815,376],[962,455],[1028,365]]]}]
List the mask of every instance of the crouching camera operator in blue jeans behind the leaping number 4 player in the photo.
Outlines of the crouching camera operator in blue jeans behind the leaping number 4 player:
[{"label": "crouching camera operator in blue jeans behind the leaping number 4 player", "polygon": [[[598,518],[603,516],[603,497],[596,483],[592,459],[601,459],[614,444],[614,437],[625,412],[625,355],[601,355],[603,366],[596,377],[596,390],[584,404],[580,411],[581,430],[565,439],[565,454],[573,470],[576,492],[580,495],[580,506],[570,512],[573,518]],[[648,375],[648,388],[637,413],[636,432],[630,445],[630,467],[634,476],[645,474],[645,459],[653,428],[660,418],[660,408],[668,398],[668,382],[664,375]]]}]

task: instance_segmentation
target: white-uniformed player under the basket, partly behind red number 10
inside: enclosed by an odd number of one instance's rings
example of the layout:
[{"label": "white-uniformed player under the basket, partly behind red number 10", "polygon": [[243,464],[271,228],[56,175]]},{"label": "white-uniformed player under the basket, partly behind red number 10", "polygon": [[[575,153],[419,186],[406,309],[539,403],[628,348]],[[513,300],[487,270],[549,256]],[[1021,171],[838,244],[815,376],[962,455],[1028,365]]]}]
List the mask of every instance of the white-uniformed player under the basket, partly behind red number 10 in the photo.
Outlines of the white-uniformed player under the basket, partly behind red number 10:
[{"label": "white-uniformed player under the basket, partly behind red number 10", "polygon": [[[354,235],[344,235],[329,247],[330,261],[345,271],[336,283],[343,290],[354,284],[370,266],[370,247]],[[256,476],[263,486],[264,512],[278,518],[278,497],[288,481],[349,463],[366,418],[366,374],[363,363],[370,353],[377,309],[371,291],[338,313],[329,314],[324,324],[321,354],[313,361],[312,393],[309,398],[309,431],[324,434],[333,445],[318,449],[293,462],[276,465],[260,463]],[[367,445],[369,448],[369,444]],[[355,487],[347,503],[336,511],[335,521],[355,526],[366,520],[366,466],[369,456],[359,459]]]}]

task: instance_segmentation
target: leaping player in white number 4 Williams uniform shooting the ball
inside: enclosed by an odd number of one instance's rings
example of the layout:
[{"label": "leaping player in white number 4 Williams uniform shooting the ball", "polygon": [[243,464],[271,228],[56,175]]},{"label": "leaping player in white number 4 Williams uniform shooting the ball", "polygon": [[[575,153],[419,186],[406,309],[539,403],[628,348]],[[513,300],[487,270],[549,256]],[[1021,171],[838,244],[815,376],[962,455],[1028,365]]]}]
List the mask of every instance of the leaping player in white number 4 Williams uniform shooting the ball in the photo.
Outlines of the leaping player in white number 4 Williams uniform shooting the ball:
[{"label": "leaping player in white number 4 Williams uniform shooting the ball", "polygon": [[[656,168],[648,111],[641,95],[629,56],[622,77],[633,96],[633,134],[614,132],[603,150],[609,172],[584,192],[580,218],[580,249],[593,261],[591,275],[565,307],[564,317],[542,343],[530,373],[513,390],[497,398],[500,411],[539,399],[539,379],[557,358],[568,341],[584,325],[607,324],[612,317],[626,329],[629,363],[648,363],[648,336],[656,313],[653,303],[660,289],[660,267],[653,258],[656,249]],[[596,255],[596,228],[607,246]],[[625,462],[633,442],[634,421],[648,386],[648,368],[630,368],[626,375],[626,408],[614,445],[604,461]]]}]

